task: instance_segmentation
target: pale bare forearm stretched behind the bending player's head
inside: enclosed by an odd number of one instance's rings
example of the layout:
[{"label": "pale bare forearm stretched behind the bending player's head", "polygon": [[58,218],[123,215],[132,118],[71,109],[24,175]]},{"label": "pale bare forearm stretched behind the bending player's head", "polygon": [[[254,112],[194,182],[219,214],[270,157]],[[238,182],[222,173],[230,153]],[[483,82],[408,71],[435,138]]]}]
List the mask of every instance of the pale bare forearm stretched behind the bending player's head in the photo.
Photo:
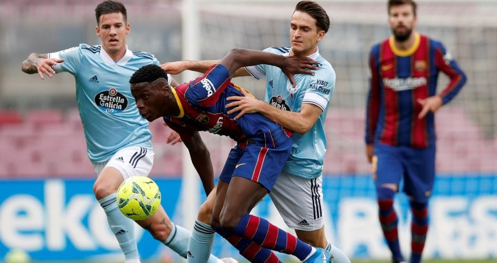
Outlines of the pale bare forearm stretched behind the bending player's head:
[{"label": "pale bare forearm stretched behind the bending player's head", "polygon": [[[199,60],[199,61],[174,61],[174,62],[166,62],[161,65],[161,68],[166,71],[166,73],[171,75],[177,75],[185,70],[192,70],[200,73],[205,73],[211,66],[214,64],[219,64],[220,60]],[[231,77],[244,77],[250,76],[249,71],[245,68],[239,68],[235,75]]]}]

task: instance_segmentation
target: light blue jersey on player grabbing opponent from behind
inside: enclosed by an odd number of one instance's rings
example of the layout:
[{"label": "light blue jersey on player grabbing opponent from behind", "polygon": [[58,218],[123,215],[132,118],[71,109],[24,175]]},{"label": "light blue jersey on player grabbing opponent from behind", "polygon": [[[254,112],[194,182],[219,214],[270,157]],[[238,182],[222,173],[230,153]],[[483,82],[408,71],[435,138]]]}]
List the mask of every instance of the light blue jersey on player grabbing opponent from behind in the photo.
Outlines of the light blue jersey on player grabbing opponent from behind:
[{"label": "light blue jersey on player grabbing opponent from behind", "polygon": [[[288,56],[290,48],[266,48],[264,51]],[[300,112],[303,103],[314,104],[322,109],[319,119],[304,135],[293,133],[293,146],[284,171],[312,179],[322,175],[324,155],[327,150],[327,139],[324,134],[329,100],[335,89],[335,70],[331,64],[320,56],[319,50],[309,56],[320,62],[314,75],[295,75],[295,88],[276,66],[257,65],[246,67],[253,77],[266,77],[265,101],[282,110]]]}]

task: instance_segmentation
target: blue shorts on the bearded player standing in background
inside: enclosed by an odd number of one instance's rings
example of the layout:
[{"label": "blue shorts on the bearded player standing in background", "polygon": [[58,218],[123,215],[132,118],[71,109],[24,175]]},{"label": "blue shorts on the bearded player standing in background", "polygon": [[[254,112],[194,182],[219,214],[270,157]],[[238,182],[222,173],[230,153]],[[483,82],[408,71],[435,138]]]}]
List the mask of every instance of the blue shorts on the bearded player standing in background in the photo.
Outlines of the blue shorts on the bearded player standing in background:
[{"label": "blue shorts on the bearded player standing in background", "polygon": [[434,143],[422,149],[375,144],[373,177],[376,188],[382,184],[399,185],[404,179],[404,193],[416,202],[427,202],[435,179],[435,150]]}]

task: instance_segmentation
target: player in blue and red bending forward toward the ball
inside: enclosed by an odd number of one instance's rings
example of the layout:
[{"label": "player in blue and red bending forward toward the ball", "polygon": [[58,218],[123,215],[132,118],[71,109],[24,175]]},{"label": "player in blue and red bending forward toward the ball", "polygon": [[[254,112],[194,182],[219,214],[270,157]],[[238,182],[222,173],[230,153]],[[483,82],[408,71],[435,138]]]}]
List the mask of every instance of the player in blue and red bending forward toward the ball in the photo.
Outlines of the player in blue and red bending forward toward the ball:
[{"label": "player in blue and red bending forward toward the ball", "polygon": [[[300,68],[295,61],[307,66]],[[237,142],[217,184],[211,226],[220,235],[240,251],[253,251],[266,259],[275,257],[273,250],[295,255],[302,262],[330,262],[329,251],[314,248],[263,218],[249,214],[271,191],[292,145],[289,130],[258,113],[236,120],[237,113],[228,114],[227,98],[244,96],[240,88],[231,84],[231,76],[238,68],[257,64],[282,68],[293,85],[295,80],[289,72],[311,74],[311,69],[317,69],[312,66],[315,61],[306,57],[236,49],[202,77],[175,88],[168,86],[167,74],[162,68],[144,66],[131,77],[131,92],[145,119],[153,121],[164,117],[166,124],[182,136],[186,146],[191,145],[188,137],[199,130],[227,135]],[[289,70],[295,67],[296,70]]]}]

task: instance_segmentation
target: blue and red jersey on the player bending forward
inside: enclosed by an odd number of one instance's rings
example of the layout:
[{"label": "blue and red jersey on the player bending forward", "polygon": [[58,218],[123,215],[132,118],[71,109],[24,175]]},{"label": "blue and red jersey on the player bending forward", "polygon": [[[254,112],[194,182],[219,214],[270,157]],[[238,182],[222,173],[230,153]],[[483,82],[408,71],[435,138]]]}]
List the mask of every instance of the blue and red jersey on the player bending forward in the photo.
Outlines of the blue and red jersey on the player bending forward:
[{"label": "blue and red jersey on the player bending forward", "polygon": [[236,142],[246,143],[252,140],[268,145],[283,141],[280,135],[286,132],[286,139],[291,132],[270,119],[257,114],[246,113],[240,119],[233,119],[238,113],[228,115],[226,104],[231,96],[244,96],[241,88],[231,83],[228,70],[221,64],[213,66],[201,77],[187,84],[171,88],[179,106],[179,116],[164,117],[170,128],[182,135],[193,134],[195,131],[208,131],[218,135],[226,135]]}]

